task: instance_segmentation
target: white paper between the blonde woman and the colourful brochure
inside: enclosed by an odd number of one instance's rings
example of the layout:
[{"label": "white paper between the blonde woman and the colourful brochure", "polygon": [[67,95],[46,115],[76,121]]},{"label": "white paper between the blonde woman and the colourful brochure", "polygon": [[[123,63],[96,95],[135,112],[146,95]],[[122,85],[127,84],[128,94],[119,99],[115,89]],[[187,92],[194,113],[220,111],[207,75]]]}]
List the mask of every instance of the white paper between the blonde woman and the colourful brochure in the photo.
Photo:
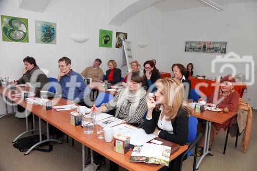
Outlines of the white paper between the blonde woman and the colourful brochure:
[{"label": "white paper between the blonde woman and the colourful brochure", "polygon": [[153,134],[146,134],[146,132],[141,128],[124,135],[130,137],[130,143],[133,145],[143,145],[157,137]]}]

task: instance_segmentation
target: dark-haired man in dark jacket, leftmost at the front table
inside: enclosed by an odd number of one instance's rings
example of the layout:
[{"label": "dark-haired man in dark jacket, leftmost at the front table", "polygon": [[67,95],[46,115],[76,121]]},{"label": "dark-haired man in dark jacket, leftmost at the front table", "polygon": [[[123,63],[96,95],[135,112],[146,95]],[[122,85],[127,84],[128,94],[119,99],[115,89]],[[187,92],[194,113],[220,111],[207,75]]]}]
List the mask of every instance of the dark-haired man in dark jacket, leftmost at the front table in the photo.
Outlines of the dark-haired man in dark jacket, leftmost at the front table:
[{"label": "dark-haired man in dark jacket, leftmost at the front table", "polygon": [[[13,81],[15,84],[31,83],[34,88],[39,88],[44,90],[47,89],[48,78],[46,74],[36,65],[35,59],[33,57],[27,56],[23,59],[25,68],[23,69],[23,76],[17,80]],[[18,105],[16,118],[25,118],[25,108]]]}]

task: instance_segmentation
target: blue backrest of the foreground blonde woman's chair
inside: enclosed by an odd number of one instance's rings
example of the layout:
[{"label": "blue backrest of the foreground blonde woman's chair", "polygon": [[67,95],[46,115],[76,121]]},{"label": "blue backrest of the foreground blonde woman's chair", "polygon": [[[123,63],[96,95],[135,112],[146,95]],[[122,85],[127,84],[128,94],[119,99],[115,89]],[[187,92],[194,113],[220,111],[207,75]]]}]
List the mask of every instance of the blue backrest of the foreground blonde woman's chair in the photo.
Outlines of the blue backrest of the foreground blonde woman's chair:
[{"label": "blue backrest of the foreground blonde woman's chair", "polygon": [[[198,120],[197,118],[193,117],[193,116],[189,116],[188,119],[188,140],[187,142],[191,143],[195,140],[196,136],[197,136],[197,124],[198,124]],[[190,150],[188,152],[188,157],[193,154],[193,151]]]}]

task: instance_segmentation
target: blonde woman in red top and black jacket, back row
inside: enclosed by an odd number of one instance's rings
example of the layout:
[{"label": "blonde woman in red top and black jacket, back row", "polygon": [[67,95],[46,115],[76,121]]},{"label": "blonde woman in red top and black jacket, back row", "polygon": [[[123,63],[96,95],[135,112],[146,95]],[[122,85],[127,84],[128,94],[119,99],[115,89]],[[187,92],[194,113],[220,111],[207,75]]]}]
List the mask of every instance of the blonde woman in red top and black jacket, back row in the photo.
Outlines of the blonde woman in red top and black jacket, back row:
[{"label": "blonde woman in red top and black jacket, back row", "polygon": [[109,60],[108,70],[106,71],[106,81],[111,84],[116,84],[120,82],[121,79],[121,70],[117,68],[117,63],[114,60]]}]

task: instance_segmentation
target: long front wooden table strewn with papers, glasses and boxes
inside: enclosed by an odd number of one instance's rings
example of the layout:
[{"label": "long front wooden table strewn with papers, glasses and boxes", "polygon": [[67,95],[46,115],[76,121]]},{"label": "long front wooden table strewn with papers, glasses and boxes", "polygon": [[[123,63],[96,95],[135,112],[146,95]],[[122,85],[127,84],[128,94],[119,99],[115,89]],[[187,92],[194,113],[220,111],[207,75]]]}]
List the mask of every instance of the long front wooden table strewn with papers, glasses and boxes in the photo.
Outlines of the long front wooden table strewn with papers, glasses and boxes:
[{"label": "long front wooden table strewn with papers, glasses and boxes", "polygon": [[[85,152],[84,152],[84,145],[87,147],[93,149],[97,153],[105,156],[109,160],[112,160],[119,164],[120,166],[128,169],[128,170],[158,170],[162,167],[162,165],[156,165],[156,164],[146,164],[146,163],[134,163],[129,162],[128,159],[131,156],[131,151],[128,151],[125,155],[121,155],[119,153],[116,153],[113,149],[113,142],[112,143],[106,143],[104,140],[99,140],[97,138],[96,133],[96,127],[95,131],[91,135],[85,135],[83,128],[81,126],[72,126],[69,123],[70,120],[70,110],[66,111],[56,111],[54,109],[52,110],[43,110],[42,106],[40,105],[32,105],[25,103],[24,100],[21,100],[21,98],[14,98],[11,96],[10,91],[3,89],[0,87],[0,93],[3,94],[3,96],[7,97],[8,99],[14,101],[15,103],[20,104],[21,106],[25,107],[29,111],[33,112],[34,115],[38,116],[39,118],[45,120],[47,123],[50,123],[54,127],[57,127],[61,131],[63,131],[68,136],[74,138],[78,142],[82,143],[82,150],[83,150],[83,168],[84,168],[84,162],[85,162]],[[61,98],[54,98],[52,99],[53,106],[57,105],[66,105],[66,104],[72,104],[72,102],[67,101],[65,99]],[[39,122],[41,120],[39,119]],[[47,125],[48,127],[48,125]],[[49,139],[48,140],[53,140]],[[171,155],[170,161],[182,154],[184,151],[186,151],[188,148],[187,145],[180,146],[179,149]]]}]

